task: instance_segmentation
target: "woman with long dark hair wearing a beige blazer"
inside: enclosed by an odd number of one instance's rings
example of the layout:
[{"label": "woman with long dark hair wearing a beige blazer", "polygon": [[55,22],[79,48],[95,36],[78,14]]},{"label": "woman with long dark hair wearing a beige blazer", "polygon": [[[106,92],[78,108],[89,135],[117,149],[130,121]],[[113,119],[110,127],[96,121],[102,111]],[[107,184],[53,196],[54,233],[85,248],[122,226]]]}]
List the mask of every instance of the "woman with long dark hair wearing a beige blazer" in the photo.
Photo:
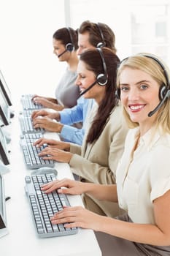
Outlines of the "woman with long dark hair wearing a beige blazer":
[{"label": "woman with long dark hair wearing a beige blazer", "polygon": [[[37,140],[35,145],[47,143],[40,153],[44,159],[68,162],[72,172],[84,183],[115,183],[115,170],[120,159],[128,127],[122,108],[115,99],[116,70],[119,59],[108,48],[85,50],[77,67],[77,86],[85,99],[95,99],[82,146],[56,140]],[[97,64],[97,65],[96,65]],[[89,89],[90,88],[90,89]],[[50,155],[46,157],[46,155]],[[117,216],[117,203],[101,202],[88,194],[82,195],[86,208],[101,215]]]}]

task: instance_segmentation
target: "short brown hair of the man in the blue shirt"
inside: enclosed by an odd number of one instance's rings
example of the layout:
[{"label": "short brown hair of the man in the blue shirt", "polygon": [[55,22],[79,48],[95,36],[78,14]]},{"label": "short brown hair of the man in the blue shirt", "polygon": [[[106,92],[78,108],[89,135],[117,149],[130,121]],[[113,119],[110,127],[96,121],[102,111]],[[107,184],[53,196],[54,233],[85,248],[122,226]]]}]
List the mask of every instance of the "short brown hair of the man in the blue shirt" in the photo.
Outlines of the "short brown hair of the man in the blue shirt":
[{"label": "short brown hair of the man in the blue shirt", "polygon": [[[98,29],[98,26],[99,26],[99,29]],[[110,29],[109,26],[107,26],[107,24],[93,23],[93,22],[90,22],[89,20],[85,20],[80,25],[78,32],[79,32],[79,34],[84,34],[85,32],[88,31],[89,32],[89,42],[91,45],[96,47],[98,45],[98,42],[102,42],[100,30],[104,37],[105,46],[109,49],[112,49],[114,51],[114,53],[116,53],[115,34],[112,31],[112,29]]]}]

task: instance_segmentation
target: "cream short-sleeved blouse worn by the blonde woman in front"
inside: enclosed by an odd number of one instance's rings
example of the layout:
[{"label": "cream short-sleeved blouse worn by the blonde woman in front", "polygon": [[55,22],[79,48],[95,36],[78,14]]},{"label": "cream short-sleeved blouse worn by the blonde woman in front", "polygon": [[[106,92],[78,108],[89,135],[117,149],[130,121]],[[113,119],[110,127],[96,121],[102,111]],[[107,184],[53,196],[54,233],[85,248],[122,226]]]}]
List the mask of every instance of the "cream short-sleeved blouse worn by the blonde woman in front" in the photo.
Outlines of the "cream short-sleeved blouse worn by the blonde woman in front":
[{"label": "cream short-sleeved blouse worn by the blonde woman in front", "polygon": [[131,129],[117,166],[117,196],[121,208],[136,223],[155,224],[152,201],[170,189],[170,135],[152,129],[134,151],[139,127]]}]

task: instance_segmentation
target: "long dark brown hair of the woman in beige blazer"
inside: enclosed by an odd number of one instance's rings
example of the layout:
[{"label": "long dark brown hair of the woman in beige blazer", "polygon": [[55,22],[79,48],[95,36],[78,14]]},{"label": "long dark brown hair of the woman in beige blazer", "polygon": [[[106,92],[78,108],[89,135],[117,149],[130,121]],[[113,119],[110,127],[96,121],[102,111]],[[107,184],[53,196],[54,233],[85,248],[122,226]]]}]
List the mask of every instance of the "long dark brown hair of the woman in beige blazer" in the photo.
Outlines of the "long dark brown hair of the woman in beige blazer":
[{"label": "long dark brown hair of the woman in beige blazer", "polygon": [[[117,99],[115,98],[116,72],[120,59],[109,48],[102,48],[101,50],[107,67],[107,84],[105,85],[104,99],[102,99],[101,104],[98,106],[98,112],[88,132],[86,140],[88,143],[93,143],[99,138],[109,115],[112,113],[115,105],[117,105]],[[84,61],[86,68],[94,72],[96,77],[104,73],[103,62],[97,48],[85,50],[80,55],[80,61]]]}]

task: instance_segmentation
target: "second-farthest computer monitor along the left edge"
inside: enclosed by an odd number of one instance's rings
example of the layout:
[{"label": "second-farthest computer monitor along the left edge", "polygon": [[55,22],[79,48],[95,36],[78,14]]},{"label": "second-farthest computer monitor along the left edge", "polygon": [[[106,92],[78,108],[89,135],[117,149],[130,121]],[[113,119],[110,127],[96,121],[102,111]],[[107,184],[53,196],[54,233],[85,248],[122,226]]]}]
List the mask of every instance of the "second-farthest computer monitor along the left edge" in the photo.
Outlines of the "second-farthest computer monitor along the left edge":
[{"label": "second-farthest computer monitor along the left edge", "polygon": [[10,109],[4,94],[0,91],[0,125],[10,123]]}]

